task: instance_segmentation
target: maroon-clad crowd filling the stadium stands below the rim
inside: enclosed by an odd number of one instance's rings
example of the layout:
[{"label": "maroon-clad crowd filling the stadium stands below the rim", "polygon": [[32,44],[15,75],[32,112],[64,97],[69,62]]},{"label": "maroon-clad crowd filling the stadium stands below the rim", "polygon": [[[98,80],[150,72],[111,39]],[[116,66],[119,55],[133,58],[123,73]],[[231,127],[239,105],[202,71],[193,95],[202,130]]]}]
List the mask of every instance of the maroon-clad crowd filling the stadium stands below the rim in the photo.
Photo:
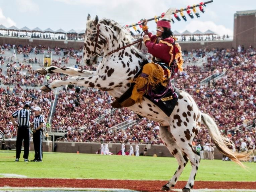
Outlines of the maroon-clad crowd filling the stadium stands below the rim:
[{"label": "maroon-clad crowd filling the stadium stands below the rim", "polygon": [[[10,49],[12,45],[2,45],[2,48],[3,47],[5,49]],[[27,52],[29,53],[31,50],[34,50],[34,48],[27,46],[22,47],[20,50],[23,54],[26,54]],[[3,50],[4,49],[1,49],[1,52]],[[36,50],[37,49],[34,51]],[[54,49],[56,55],[61,51],[63,51],[63,54],[65,53],[65,55],[76,55],[76,51],[73,49]],[[255,120],[255,49],[242,49],[240,51],[235,49],[194,50],[197,58],[203,57],[208,51],[213,51],[214,54],[207,58],[207,62],[204,63],[202,68],[198,66],[185,66],[183,72],[175,74],[175,86],[190,93],[198,104],[200,110],[214,117],[222,134],[227,135],[237,146],[241,143],[241,138],[246,141],[251,138],[251,140],[255,142],[255,126],[251,130],[245,129],[247,122]],[[192,55],[190,58],[192,58]],[[81,59],[80,56],[79,59]],[[43,77],[40,77],[40,75],[37,76],[35,71],[30,69],[29,64],[22,64],[22,66],[23,65],[29,74],[25,79],[31,81],[37,79],[39,83],[43,82]],[[53,65],[55,65],[55,63]],[[60,65],[59,62],[57,62],[56,65]],[[76,67],[86,70],[96,69],[95,66],[81,66],[79,63]],[[9,66],[9,76],[7,76],[12,82],[17,82],[17,79],[12,79],[12,76],[20,79],[22,77],[19,76],[20,74],[14,75],[14,73],[19,71],[17,70],[17,67],[16,71],[14,71],[14,69],[13,62],[12,66]],[[206,77],[211,75],[217,77],[223,72],[225,72],[225,75],[222,78],[211,80],[206,84],[200,84],[200,81]],[[1,75],[1,78],[3,82],[5,76]],[[47,78],[47,82],[50,83],[53,80],[61,78],[64,78],[61,74],[52,74]],[[22,92],[20,84],[15,88],[12,88],[12,90],[10,90],[10,88],[9,90],[7,89],[8,88],[3,89],[0,93],[1,106],[6,106],[7,103],[9,103],[8,100],[10,98],[20,97],[15,96],[13,92]],[[28,90],[28,92],[29,91],[34,90]],[[26,95],[26,93],[25,90],[24,95]],[[8,96],[5,94],[8,94]],[[52,93],[39,94],[36,92],[35,94],[38,98],[48,98],[49,101],[53,100]],[[9,97],[10,95],[11,97]],[[16,99],[13,100],[16,101]],[[20,101],[21,97],[17,100]],[[63,137],[63,140],[65,141],[161,143],[161,139],[159,138],[159,125],[156,122],[152,122],[145,118],[140,119],[135,113],[128,111],[125,108],[113,110],[110,106],[112,101],[113,99],[107,92],[94,89],[82,89],[77,93],[75,88],[64,88],[60,91],[58,96],[52,120],[52,129],[66,133]],[[45,101],[43,100],[42,102]],[[38,105],[43,107],[42,104]],[[47,108],[43,111],[49,113],[49,110],[47,112],[46,109]],[[11,106],[8,107],[8,111],[12,111]],[[95,120],[99,116],[104,117]],[[126,130],[109,129],[124,121],[136,121],[136,123]],[[3,122],[2,125],[6,123],[8,122]],[[241,131],[236,131],[237,129],[234,129],[235,131],[229,132],[231,128],[238,127],[239,125],[243,125]],[[84,131],[79,131],[80,127],[84,127]],[[10,134],[15,135],[13,131],[10,131],[13,130],[13,127],[11,128],[10,125],[6,126],[6,129],[1,127],[1,130],[5,130],[5,132],[6,130],[9,130]],[[194,144],[197,145],[198,143],[202,145],[211,143],[209,133],[203,127],[198,136],[194,139]]]}]

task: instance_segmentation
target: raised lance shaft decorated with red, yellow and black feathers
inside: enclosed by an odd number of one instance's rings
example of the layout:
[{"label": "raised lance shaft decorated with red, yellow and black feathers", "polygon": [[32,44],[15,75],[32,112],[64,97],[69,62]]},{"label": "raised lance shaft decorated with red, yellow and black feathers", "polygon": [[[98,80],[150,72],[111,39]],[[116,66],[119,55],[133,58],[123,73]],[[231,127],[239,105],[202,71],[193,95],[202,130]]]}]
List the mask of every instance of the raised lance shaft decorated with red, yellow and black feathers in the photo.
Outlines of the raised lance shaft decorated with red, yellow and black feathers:
[{"label": "raised lance shaft decorated with red, yellow and black feathers", "polygon": [[[211,0],[211,1],[206,1],[206,2],[201,2],[201,3],[199,3],[199,4],[197,4],[197,5],[193,5],[193,6],[187,6],[186,9],[177,9],[173,14],[176,14],[176,13],[179,13],[179,12],[182,13],[183,11],[186,11],[186,10],[189,10],[189,9],[194,9],[194,10],[195,10],[195,7],[199,7],[200,11],[204,13],[204,10],[203,10],[202,6],[205,6],[206,4],[212,3],[212,2],[213,2],[213,0]],[[194,10],[193,10],[193,11],[194,11]],[[195,11],[194,11],[194,12],[195,12]],[[154,18],[147,19],[147,21],[152,21],[152,20],[159,19],[159,18],[163,17],[164,15],[165,15],[165,14],[162,13],[161,16],[155,16]],[[199,17],[198,15],[196,15],[196,16]],[[176,16],[175,16],[175,17],[176,17]],[[176,17],[176,19],[177,19],[177,20],[180,20],[180,19],[178,19],[177,17]],[[184,19],[184,20],[185,20],[185,19]],[[142,25],[142,24],[143,24],[143,22],[139,21],[138,23],[135,23],[135,24],[126,25],[126,27],[130,28],[130,27],[134,27],[134,26]]]}]

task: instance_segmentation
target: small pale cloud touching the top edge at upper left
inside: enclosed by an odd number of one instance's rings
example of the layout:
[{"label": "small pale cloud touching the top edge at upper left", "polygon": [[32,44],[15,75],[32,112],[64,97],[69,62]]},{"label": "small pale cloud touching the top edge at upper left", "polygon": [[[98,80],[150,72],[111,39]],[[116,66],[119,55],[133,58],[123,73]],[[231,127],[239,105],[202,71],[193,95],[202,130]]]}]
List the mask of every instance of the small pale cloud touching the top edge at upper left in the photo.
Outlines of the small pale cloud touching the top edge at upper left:
[{"label": "small pale cloud touching the top edge at upper left", "polygon": [[16,5],[18,7],[19,12],[26,13],[26,12],[39,12],[39,6],[32,0],[16,0]]}]

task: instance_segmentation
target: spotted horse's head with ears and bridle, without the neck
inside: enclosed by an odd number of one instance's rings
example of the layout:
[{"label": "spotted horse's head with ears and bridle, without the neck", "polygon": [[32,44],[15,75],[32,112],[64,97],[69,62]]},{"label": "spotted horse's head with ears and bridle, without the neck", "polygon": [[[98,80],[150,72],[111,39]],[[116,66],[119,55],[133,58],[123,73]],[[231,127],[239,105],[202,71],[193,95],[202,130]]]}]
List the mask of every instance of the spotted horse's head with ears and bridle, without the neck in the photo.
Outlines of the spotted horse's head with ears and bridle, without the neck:
[{"label": "spotted horse's head with ears and bridle, without the neck", "polygon": [[99,31],[99,18],[96,15],[94,20],[90,19],[91,16],[88,14],[87,23],[84,37],[84,48],[83,48],[83,60],[86,65],[96,64],[98,56],[101,54],[106,40],[102,40],[102,36]]}]

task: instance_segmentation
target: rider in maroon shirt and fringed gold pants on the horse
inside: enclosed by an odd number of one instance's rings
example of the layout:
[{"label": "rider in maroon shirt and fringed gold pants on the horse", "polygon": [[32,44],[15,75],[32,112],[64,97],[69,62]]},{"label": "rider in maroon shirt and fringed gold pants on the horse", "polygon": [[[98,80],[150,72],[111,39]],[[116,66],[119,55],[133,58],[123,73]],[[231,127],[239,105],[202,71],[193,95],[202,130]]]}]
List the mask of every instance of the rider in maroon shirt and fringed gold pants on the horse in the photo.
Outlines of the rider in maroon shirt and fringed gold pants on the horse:
[{"label": "rider in maroon shirt and fringed gold pants on the horse", "polygon": [[[148,32],[147,20],[144,19],[142,26],[145,36],[143,41],[152,54],[152,63],[143,66],[142,73],[134,78],[135,83],[130,98],[121,103],[122,107],[130,107],[135,103],[142,102],[143,94],[149,94],[158,83],[167,88],[174,73],[182,71],[183,59],[181,47],[173,37],[171,22],[167,19],[157,21],[156,35]],[[168,86],[169,87],[169,86]],[[172,87],[171,87],[172,89]],[[172,89],[173,91],[173,89]],[[173,91],[174,97],[176,93]]]}]

